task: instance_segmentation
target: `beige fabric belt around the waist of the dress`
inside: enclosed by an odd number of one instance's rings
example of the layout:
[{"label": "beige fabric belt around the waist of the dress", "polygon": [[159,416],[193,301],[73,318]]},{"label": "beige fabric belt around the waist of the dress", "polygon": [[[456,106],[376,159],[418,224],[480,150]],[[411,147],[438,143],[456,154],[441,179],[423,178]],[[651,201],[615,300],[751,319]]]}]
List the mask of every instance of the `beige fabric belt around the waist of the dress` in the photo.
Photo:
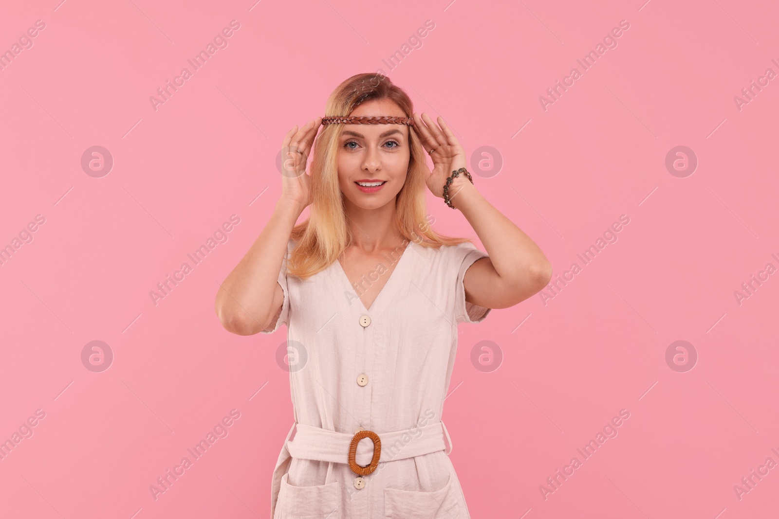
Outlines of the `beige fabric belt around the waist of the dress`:
[{"label": "beige fabric belt around the waist of the dress", "polygon": [[[287,450],[292,458],[347,463],[349,444],[354,434],[337,433],[302,423],[296,425],[293,439],[287,441]],[[379,435],[382,444],[379,463],[414,458],[414,456],[436,451],[446,451],[446,454],[451,452],[452,442],[449,439],[449,432],[440,421],[422,427],[390,433],[376,432],[376,434]],[[448,451],[447,444],[444,443],[444,435],[449,445]],[[368,438],[360,440],[355,461],[358,465],[368,465],[372,456],[372,441]]]}]

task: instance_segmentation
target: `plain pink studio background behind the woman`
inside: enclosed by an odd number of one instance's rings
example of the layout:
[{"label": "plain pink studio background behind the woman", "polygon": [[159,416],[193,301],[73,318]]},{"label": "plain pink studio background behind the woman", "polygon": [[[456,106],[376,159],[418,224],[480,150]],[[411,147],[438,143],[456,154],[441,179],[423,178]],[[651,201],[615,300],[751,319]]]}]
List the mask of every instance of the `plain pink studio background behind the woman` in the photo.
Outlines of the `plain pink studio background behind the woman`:
[{"label": "plain pink studio background behind the woman", "polygon": [[[286,329],[231,335],[214,295],[280,194],[284,134],[379,68],[469,156],[497,150],[502,169],[474,181],[555,275],[629,218],[553,299],[460,325],[443,419],[472,517],[777,517],[779,468],[734,490],[779,463],[779,275],[734,296],[779,267],[779,79],[734,101],[779,72],[776,2],[58,2],[8,2],[0,18],[0,51],[46,24],[0,71],[0,246],[45,218],[0,265],[0,440],[45,412],[0,460],[0,517],[268,516],[292,423],[275,360]],[[232,19],[228,46],[154,110]],[[382,63],[428,19],[421,47]],[[576,59],[623,19],[584,71]],[[82,169],[91,146],[113,156],[108,175]],[[675,146],[697,156],[693,174],[666,169]],[[429,202],[436,229],[474,236]],[[157,282],[234,214],[227,242],[155,306]],[[100,373],[81,360],[93,340],[114,354]],[[471,363],[485,340],[503,356],[488,373]],[[666,362],[678,340],[692,370]],[[154,500],[157,477],[231,409],[228,436]],[[577,447],[621,409],[618,436],[585,460]]]}]

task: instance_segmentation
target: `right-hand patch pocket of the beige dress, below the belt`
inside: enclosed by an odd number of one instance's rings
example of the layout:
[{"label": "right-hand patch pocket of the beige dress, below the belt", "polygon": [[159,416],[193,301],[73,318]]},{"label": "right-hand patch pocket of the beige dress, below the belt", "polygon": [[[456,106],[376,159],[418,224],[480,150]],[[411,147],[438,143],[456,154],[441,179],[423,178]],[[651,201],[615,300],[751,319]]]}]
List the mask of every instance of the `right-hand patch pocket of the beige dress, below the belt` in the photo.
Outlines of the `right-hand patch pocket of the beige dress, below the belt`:
[{"label": "right-hand patch pocket of the beige dress, below the belt", "polygon": [[460,503],[453,489],[454,478],[432,492],[384,489],[384,517],[392,519],[459,519]]}]

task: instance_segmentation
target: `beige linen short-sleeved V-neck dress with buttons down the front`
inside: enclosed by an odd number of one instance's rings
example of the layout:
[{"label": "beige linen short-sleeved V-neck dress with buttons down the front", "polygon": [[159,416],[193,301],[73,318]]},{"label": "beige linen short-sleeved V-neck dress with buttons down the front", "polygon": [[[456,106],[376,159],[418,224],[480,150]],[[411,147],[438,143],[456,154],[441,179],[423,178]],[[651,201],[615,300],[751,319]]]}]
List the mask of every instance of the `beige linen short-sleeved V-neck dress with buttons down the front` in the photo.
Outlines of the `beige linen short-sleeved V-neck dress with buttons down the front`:
[{"label": "beige linen short-sleeved V-neck dress with buttons down the front", "polygon": [[[487,254],[470,242],[436,249],[410,241],[366,273],[363,286],[395,264],[366,310],[338,261],[306,280],[287,276],[293,247],[290,240],[278,277],[284,303],[273,328],[262,332],[287,324],[287,347],[294,353],[295,423],[287,440],[296,424],[349,437],[358,427],[381,437],[384,431],[439,426],[457,324],[480,322],[490,311],[467,303],[463,285],[467,269]],[[287,440],[273,473],[273,519],[471,517],[449,461],[451,440],[447,450],[379,462],[361,482],[346,463],[291,457]],[[386,448],[382,444],[382,459]],[[368,465],[372,453],[371,440],[361,440],[356,462]]]}]

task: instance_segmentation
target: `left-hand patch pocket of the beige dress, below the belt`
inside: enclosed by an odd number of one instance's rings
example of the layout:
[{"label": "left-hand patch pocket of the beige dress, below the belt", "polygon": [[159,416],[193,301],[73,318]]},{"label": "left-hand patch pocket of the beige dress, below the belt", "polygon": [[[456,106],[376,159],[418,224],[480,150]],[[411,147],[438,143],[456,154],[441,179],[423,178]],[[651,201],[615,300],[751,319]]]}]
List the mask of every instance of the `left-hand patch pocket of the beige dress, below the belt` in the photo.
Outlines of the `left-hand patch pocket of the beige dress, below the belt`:
[{"label": "left-hand patch pocket of the beige dress, below the belt", "polygon": [[289,473],[281,476],[281,486],[273,519],[341,519],[340,483],[318,486],[292,486]]}]

